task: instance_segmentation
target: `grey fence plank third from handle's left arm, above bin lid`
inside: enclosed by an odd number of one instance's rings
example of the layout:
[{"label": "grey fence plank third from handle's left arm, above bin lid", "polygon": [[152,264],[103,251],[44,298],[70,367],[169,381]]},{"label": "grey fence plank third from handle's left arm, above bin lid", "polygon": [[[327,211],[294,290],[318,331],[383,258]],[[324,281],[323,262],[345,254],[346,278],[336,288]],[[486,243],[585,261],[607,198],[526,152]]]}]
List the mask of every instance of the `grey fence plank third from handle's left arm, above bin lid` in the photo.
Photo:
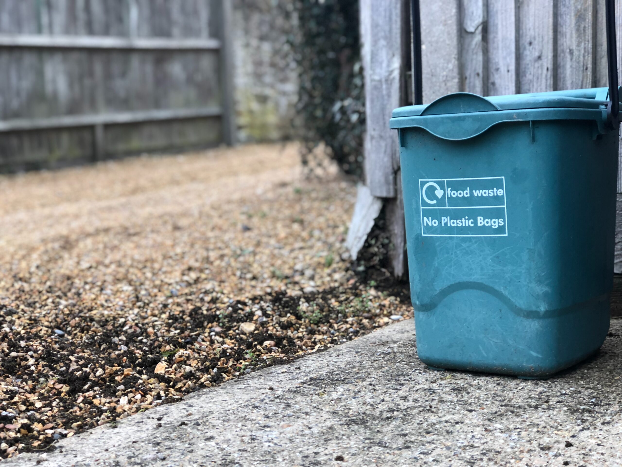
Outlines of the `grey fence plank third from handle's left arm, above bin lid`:
[{"label": "grey fence plank third from handle's left arm, above bin lid", "polygon": [[488,95],[518,92],[518,0],[488,1]]}]

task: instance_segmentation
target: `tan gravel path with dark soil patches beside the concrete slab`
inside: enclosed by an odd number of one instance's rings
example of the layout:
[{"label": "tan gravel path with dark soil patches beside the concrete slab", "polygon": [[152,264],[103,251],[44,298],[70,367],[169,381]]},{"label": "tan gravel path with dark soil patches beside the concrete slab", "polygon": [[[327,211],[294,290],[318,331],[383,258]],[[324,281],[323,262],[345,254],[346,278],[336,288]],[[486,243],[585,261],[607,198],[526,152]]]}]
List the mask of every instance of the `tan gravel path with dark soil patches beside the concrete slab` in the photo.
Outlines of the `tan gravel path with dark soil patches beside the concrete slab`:
[{"label": "tan gravel path with dark soil patches beside the concrete slab", "polygon": [[353,184],[299,166],[290,144],[0,177],[0,456],[410,316],[342,254]]}]

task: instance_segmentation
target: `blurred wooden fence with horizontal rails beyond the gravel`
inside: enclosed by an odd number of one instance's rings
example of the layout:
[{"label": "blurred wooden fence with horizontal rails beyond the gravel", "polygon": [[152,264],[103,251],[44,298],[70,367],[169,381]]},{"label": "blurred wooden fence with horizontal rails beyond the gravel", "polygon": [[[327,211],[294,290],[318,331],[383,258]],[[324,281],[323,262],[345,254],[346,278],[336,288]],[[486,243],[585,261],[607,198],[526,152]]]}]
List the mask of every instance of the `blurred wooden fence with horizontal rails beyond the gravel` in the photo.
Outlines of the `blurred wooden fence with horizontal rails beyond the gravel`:
[{"label": "blurred wooden fence with horizontal rails beyond the gravel", "polygon": [[234,139],[229,0],[1,0],[0,171]]}]

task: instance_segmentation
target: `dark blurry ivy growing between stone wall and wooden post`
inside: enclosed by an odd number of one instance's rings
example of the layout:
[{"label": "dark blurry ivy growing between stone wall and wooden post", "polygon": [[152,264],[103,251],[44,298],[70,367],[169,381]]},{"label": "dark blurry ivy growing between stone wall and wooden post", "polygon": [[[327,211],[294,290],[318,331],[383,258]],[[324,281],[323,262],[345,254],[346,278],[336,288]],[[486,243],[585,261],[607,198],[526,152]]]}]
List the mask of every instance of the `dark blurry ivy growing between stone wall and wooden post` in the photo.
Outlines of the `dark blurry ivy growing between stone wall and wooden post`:
[{"label": "dark blurry ivy growing between stone wall and wooden post", "polygon": [[363,176],[364,82],[358,0],[281,1],[299,70],[297,137],[302,163],[323,148],[345,174]]}]

